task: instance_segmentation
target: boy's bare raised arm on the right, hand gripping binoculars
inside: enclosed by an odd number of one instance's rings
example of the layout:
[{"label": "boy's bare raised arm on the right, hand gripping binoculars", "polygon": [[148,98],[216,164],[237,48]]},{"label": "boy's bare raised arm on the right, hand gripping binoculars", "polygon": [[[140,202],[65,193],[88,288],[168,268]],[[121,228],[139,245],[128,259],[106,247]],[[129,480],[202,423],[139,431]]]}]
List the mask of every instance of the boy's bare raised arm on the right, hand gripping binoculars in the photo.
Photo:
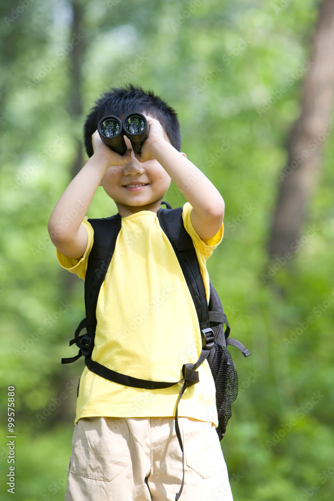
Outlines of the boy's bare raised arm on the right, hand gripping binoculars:
[{"label": "boy's bare raised arm on the right, hand gripping binoculars", "polygon": [[152,155],[158,160],[192,205],[191,222],[196,233],[203,240],[212,238],[224,218],[225,203],[221,194],[201,170],[164,139],[160,123],[146,118],[150,134],[136,158],[145,161]]}]

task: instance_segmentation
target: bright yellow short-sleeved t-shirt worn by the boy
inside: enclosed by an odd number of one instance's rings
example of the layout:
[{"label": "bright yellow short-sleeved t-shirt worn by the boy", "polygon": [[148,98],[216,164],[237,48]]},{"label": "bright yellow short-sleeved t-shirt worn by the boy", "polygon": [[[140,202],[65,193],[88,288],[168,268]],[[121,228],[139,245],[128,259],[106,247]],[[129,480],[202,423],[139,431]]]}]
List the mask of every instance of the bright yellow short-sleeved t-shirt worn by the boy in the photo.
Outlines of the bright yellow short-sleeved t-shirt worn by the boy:
[{"label": "bright yellow short-sleeved t-shirt worn by the boy", "polygon": [[[223,226],[202,241],[191,220],[191,205],[183,207],[209,299],[206,260],[222,239]],[[88,244],[78,262],[57,251],[59,263],[85,279],[94,230],[83,221]],[[155,212],[143,210],[122,218],[115,252],[97,302],[97,329],[92,359],[141,379],[178,381],[182,365],[195,363],[202,342],[196,310],[172,245]],[[179,416],[211,421],[216,426],[215,385],[208,362],[198,369],[199,383],[187,388]],[[114,383],[85,367],[80,380],[77,422],[82,417],[174,416],[182,383],[145,390]]]}]

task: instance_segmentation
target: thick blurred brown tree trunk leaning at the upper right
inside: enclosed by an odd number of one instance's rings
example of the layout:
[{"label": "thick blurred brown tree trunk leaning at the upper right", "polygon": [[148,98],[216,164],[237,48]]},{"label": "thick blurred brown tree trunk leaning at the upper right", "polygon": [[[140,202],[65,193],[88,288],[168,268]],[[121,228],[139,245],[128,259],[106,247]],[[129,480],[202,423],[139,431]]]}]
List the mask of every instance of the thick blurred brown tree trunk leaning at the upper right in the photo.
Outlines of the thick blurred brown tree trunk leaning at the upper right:
[{"label": "thick blurred brown tree trunk leaning at the upper right", "polygon": [[321,150],[332,132],[330,122],[334,94],[334,1],[320,6],[313,41],[311,66],[307,72],[301,114],[287,142],[288,161],[280,173],[278,201],[269,239],[269,256],[293,253],[300,236],[307,204],[321,169]]}]

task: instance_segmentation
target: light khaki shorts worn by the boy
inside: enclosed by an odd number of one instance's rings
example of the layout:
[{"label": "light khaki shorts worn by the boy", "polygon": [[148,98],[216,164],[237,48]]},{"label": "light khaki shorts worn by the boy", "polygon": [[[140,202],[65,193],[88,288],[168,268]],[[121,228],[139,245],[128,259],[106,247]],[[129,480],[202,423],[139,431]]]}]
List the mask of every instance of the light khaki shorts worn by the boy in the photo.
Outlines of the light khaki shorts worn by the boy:
[{"label": "light khaki shorts worn by the boy", "polygon": [[[233,501],[212,423],[179,418],[185,451],[181,501]],[[80,419],[65,501],[174,501],[182,452],[174,418]]]}]

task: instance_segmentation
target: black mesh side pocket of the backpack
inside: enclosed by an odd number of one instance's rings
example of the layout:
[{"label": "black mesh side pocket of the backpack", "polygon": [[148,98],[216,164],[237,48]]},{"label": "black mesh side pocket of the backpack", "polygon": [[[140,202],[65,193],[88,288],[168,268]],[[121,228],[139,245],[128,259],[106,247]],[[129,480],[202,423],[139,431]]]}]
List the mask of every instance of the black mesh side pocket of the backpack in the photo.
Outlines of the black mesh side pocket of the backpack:
[{"label": "black mesh side pocket of the backpack", "polygon": [[215,344],[210,362],[212,376],[216,386],[216,407],[218,413],[219,440],[225,434],[226,425],[231,417],[231,405],[238,395],[238,376],[230,352],[224,346]]}]

